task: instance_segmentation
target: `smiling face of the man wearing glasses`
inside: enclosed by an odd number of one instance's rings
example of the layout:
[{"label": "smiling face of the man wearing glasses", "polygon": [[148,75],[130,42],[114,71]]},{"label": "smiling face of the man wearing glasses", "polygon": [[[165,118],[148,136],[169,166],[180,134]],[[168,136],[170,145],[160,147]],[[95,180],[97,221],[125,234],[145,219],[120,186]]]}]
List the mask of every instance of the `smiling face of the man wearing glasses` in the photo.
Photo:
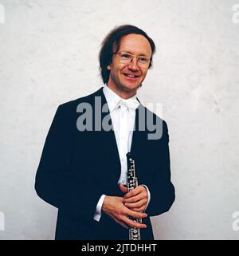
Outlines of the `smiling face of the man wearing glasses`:
[{"label": "smiling face of the man wearing glasses", "polygon": [[[146,37],[130,33],[122,37],[117,53],[130,53],[135,56],[151,57],[151,45]],[[147,75],[147,67],[139,67],[134,57],[129,64],[120,61],[119,54],[114,54],[112,63],[108,65],[110,76],[108,87],[120,97],[127,99],[134,96]]]}]

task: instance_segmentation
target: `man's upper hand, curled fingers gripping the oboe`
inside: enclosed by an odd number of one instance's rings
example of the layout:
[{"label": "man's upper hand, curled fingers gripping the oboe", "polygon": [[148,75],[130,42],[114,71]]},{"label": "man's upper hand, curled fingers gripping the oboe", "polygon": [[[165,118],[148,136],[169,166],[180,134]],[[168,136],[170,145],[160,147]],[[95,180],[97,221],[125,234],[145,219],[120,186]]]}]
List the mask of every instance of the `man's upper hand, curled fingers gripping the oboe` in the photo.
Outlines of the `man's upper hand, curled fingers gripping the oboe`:
[{"label": "man's upper hand, curled fingers gripping the oboe", "polygon": [[[123,191],[123,187],[119,188]],[[147,207],[147,189],[141,185],[127,192],[123,198],[123,204],[132,211],[143,212]]]}]

